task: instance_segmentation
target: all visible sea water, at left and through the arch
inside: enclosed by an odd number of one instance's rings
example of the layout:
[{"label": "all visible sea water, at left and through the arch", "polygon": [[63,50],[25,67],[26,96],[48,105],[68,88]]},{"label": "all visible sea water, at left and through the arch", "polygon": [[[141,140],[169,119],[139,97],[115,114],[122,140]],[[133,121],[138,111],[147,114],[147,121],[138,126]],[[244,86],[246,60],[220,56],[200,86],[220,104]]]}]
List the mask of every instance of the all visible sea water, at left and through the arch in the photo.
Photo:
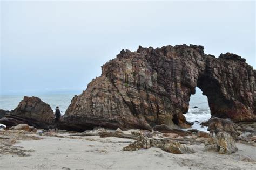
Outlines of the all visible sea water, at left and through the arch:
[{"label": "all visible sea water, at left and through the arch", "polygon": [[[67,94],[37,94],[45,103],[50,104],[52,110],[59,106],[60,110],[63,111],[62,115],[65,113],[66,109],[69,107],[74,93]],[[30,95],[28,95],[30,96]],[[5,95],[0,96],[0,109],[4,110],[13,110],[17,107],[19,102],[23,100],[23,95]],[[198,108],[193,108],[197,106]],[[207,127],[201,127],[200,123],[208,121],[211,118],[210,109],[208,107],[207,97],[202,95],[202,92],[199,88],[196,88],[196,94],[192,95],[190,98],[190,108],[187,114],[184,115],[188,122],[198,121],[199,123],[194,122],[189,129],[198,129],[201,131],[207,132]],[[1,124],[0,124],[1,125]]]}]

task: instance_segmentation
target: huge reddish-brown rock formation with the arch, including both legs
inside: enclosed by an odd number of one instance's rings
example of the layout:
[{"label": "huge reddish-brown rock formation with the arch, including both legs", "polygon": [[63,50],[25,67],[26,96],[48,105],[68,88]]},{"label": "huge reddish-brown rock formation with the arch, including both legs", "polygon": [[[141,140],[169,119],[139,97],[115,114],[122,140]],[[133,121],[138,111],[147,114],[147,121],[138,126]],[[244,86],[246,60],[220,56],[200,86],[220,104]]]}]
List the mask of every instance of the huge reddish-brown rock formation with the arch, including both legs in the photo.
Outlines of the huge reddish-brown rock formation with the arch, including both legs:
[{"label": "huge reddish-brown rock formation with the arch, including both legs", "polygon": [[253,121],[255,77],[256,71],[240,56],[226,53],[215,58],[204,54],[203,46],[122,50],[73,98],[62,128],[151,129],[159,124],[186,128],[183,114],[197,86],[208,97],[212,117]]}]

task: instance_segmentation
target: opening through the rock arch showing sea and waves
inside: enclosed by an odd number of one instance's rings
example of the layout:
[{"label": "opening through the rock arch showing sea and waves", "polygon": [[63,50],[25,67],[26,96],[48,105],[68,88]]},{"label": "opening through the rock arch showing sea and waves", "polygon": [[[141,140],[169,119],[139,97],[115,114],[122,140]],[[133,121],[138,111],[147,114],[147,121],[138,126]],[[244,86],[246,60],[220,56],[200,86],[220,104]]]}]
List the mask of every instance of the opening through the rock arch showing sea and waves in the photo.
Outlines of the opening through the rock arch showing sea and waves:
[{"label": "opening through the rock arch showing sea and waves", "polygon": [[201,123],[211,118],[211,111],[207,97],[198,87],[196,93],[190,96],[188,112],[184,116],[188,122],[194,123],[189,129],[208,132],[207,126],[202,126]]}]

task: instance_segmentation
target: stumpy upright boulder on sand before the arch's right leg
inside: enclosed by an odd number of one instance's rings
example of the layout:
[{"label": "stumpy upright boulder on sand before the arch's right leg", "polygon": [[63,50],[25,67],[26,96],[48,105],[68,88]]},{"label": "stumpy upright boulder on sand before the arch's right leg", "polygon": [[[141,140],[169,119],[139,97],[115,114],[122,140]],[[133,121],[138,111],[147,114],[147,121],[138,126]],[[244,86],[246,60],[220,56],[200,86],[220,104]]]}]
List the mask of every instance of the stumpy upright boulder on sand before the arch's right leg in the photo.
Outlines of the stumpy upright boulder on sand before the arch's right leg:
[{"label": "stumpy upright boulder on sand before the arch's right leg", "polygon": [[210,137],[205,143],[205,150],[214,150],[220,154],[231,154],[238,151],[235,145],[237,131],[230,119],[212,118],[208,121]]}]

